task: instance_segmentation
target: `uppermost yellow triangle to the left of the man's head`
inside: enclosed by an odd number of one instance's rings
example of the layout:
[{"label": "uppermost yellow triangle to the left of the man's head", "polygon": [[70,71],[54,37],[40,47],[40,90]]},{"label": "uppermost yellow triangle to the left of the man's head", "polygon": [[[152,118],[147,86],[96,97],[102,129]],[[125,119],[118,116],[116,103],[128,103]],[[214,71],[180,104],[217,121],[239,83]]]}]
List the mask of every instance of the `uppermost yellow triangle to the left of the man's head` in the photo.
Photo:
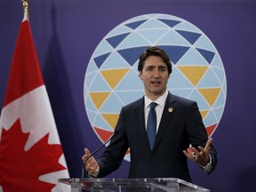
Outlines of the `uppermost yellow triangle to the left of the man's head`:
[{"label": "uppermost yellow triangle to the left of the man's head", "polygon": [[116,87],[116,84],[120,82],[120,80],[124,77],[128,70],[129,68],[101,70],[101,74],[102,76],[104,76],[111,88],[114,89]]}]

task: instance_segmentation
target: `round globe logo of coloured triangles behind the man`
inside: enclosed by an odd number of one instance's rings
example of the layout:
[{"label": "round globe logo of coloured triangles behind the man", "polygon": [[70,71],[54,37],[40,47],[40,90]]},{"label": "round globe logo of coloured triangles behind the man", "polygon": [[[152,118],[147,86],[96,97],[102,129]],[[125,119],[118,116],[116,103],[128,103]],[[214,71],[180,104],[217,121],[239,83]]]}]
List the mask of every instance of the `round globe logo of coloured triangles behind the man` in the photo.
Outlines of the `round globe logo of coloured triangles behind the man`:
[{"label": "round globe logo of coloured triangles behind the man", "polygon": [[[108,140],[121,108],[143,96],[137,66],[140,53],[149,45],[157,45],[170,55],[168,90],[196,100],[211,137],[227,97],[220,54],[199,28],[167,14],[147,14],[124,21],[92,53],[84,77],[84,105],[94,132],[102,142]],[[124,159],[130,161],[129,155],[128,151]]]}]

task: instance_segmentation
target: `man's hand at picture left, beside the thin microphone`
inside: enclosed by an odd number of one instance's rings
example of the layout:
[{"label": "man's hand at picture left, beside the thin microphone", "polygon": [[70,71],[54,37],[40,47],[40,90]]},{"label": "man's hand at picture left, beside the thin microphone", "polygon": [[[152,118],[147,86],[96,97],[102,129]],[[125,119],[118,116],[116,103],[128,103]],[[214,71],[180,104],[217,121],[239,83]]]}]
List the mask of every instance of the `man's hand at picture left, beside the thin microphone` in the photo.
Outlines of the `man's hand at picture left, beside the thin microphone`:
[{"label": "man's hand at picture left, beside the thin microphone", "polygon": [[[88,150],[88,148],[84,148],[84,156],[82,156],[84,163],[88,156],[91,156],[91,153]],[[92,176],[97,176],[97,174],[99,173],[99,168],[100,168],[99,164],[97,164],[97,162],[93,156],[91,156],[86,161],[86,163],[84,164],[84,167],[85,167],[86,171],[89,172],[89,174],[91,174]]]}]

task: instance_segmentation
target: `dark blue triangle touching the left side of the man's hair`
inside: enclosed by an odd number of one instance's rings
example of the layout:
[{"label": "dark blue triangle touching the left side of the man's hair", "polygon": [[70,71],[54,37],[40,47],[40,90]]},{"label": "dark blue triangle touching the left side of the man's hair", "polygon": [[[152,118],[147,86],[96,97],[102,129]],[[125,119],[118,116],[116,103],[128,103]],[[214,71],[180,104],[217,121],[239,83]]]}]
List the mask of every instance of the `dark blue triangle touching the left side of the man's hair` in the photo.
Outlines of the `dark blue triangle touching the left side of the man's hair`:
[{"label": "dark blue triangle touching the left side of the man's hair", "polygon": [[141,52],[145,52],[148,46],[132,47],[129,49],[119,50],[119,54],[122,55],[131,66],[139,59]]}]

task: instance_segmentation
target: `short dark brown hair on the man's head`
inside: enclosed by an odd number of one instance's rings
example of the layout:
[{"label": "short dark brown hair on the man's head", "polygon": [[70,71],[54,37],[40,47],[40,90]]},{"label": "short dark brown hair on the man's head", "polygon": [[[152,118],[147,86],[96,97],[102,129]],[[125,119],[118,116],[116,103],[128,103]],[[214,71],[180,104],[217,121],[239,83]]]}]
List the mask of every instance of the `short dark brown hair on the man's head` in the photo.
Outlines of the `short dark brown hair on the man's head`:
[{"label": "short dark brown hair on the man's head", "polygon": [[172,73],[172,62],[170,60],[170,57],[163,49],[161,49],[158,46],[149,46],[145,52],[142,52],[140,54],[138,71],[140,71],[140,72],[142,71],[142,69],[144,67],[145,60],[147,60],[147,58],[149,56],[161,57],[167,66],[169,75]]}]

